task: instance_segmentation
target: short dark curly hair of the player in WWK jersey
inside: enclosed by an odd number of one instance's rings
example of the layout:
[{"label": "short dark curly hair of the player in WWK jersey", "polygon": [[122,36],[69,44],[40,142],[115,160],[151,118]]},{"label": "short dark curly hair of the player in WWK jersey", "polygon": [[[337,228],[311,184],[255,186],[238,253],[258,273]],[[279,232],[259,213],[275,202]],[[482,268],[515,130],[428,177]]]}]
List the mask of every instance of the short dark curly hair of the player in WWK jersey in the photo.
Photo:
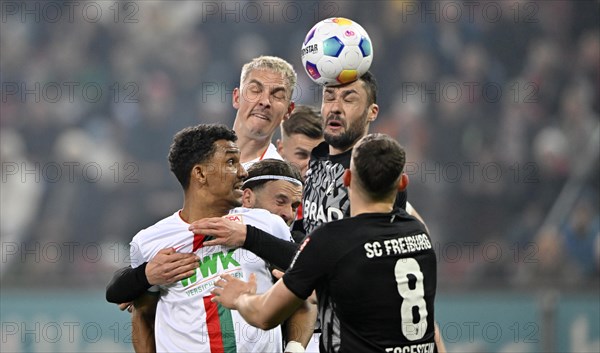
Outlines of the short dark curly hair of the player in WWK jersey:
[{"label": "short dark curly hair of the player in WWK jersey", "polygon": [[215,141],[237,140],[235,132],[223,124],[200,124],[186,127],[173,137],[169,149],[169,165],[184,190],[190,184],[190,173],[196,164],[210,160],[215,154]]}]

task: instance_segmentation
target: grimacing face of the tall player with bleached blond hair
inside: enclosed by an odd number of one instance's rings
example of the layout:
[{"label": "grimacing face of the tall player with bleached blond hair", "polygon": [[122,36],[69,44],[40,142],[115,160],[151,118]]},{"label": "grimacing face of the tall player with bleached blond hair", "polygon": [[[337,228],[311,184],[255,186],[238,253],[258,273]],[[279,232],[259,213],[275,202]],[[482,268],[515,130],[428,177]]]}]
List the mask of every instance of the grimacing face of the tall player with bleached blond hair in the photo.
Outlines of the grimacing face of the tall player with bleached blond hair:
[{"label": "grimacing face of the tall player with bleached blond hair", "polygon": [[238,110],[234,129],[249,138],[271,138],[293,108],[290,99],[282,74],[251,71],[241,87],[233,90],[233,107]]}]

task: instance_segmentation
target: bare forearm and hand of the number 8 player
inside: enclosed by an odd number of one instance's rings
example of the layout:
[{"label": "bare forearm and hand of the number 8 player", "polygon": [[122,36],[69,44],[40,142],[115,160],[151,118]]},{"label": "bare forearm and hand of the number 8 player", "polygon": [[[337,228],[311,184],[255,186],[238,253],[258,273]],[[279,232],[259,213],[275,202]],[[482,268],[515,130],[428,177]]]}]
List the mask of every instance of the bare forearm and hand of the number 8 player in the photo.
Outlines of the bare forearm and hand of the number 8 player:
[{"label": "bare forearm and hand of the number 8 player", "polygon": [[[249,282],[222,275],[211,292],[212,301],[237,310],[250,325],[263,330],[271,329],[290,317],[304,302],[283,283],[277,281],[263,294],[256,295],[256,281]],[[267,304],[268,303],[268,304]]]}]

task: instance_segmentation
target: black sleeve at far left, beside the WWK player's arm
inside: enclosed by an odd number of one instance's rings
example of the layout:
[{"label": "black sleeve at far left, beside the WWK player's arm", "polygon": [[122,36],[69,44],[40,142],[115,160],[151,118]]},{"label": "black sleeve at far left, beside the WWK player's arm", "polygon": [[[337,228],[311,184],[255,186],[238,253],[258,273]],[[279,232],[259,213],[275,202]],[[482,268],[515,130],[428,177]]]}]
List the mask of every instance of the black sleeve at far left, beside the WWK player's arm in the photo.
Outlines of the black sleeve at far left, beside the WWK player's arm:
[{"label": "black sleeve at far left, beside the WWK player's arm", "polygon": [[128,303],[144,294],[151,287],[146,278],[144,262],[136,268],[123,267],[115,272],[112,280],[106,286],[106,300],[109,303]]}]

